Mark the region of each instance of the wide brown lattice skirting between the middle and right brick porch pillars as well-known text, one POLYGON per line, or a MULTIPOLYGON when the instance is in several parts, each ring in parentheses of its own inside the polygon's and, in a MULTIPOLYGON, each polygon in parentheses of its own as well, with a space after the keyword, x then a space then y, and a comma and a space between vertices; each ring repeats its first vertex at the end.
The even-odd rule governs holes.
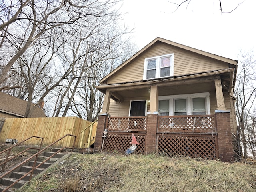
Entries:
POLYGON ((216 159, 216 135, 158 134, 158 154, 216 159))

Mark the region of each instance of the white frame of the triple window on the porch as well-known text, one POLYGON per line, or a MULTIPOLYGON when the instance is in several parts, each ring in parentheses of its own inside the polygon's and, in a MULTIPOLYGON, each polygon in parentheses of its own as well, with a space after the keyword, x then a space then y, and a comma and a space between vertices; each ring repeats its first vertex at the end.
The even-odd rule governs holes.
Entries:
POLYGON ((182 95, 168 95, 158 96, 158 100, 169 100, 169 116, 174 115, 174 103, 175 99, 186 99, 187 115, 193 115, 193 98, 205 98, 206 115, 210 115, 210 93, 194 93, 194 94, 182 94, 182 95))

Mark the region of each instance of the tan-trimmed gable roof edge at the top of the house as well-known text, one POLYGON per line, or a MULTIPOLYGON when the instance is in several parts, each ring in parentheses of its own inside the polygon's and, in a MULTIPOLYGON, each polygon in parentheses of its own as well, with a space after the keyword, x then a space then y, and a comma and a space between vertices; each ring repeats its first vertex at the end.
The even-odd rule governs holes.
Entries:
POLYGON ((202 50, 198 50, 189 46, 185 46, 176 42, 172 42, 170 40, 166 40, 160 37, 155 38, 152 42, 150 42, 149 44, 147 44, 144 48, 142 48, 141 50, 139 50, 136 54, 134 54, 131 58, 129 58, 128 60, 126 60, 124 63, 122 63, 120 66, 118 66, 116 69, 114 69, 112 72, 110 72, 108 75, 106 75, 104 78, 102 78, 100 80, 100 84, 103 84, 105 80, 107 80, 110 76, 114 75, 118 70, 122 69, 124 66, 126 66, 129 62, 131 62, 132 60, 134 60, 137 56, 139 56, 140 54, 142 54, 145 50, 147 50, 148 48, 150 48, 153 44, 155 44, 156 42, 164 42, 166 44, 172 45, 172 46, 176 46, 178 48, 182 48, 184 50, 188 50, 197 54, 201 54, 203 56, 207 56, 216 60, 220 60, 222 62, 226 62, 229 64, 232 64, 235 66, 235 68, 237 67, 237 63, 238 61, 236 60, 232 60, 229 58, 225 58, 222 56, 218 56, 215 54, 211 54, 202 50))

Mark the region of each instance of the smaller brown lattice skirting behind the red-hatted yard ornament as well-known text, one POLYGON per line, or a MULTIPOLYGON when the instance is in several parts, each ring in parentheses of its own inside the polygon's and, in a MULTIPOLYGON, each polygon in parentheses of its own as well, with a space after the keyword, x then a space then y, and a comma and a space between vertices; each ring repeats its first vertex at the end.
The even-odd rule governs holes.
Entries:
MULTIPOLYGON (((144 154, 146 133, 134 133, 136 140, 139 143, 134 153, 144 154)), ((132 133, 129 132, 108 132, 104 141, 104 152, 124 153, 130 146, 132 141, 132 133)))

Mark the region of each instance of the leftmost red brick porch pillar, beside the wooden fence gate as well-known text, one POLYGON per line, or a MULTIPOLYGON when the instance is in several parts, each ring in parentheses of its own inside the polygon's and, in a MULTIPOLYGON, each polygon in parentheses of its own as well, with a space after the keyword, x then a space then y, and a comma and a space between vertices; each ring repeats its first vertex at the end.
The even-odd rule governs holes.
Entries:
POLYGON ((98 116, 98 125, 97 125, 97 130, 96 130, 96 136, 95 136, 95 143, 94 143, 94 152, 100 152, 101 151, 101 146, 102 146, 102 136, 103 136, 103 131, 106 127, 108 116, 106 114, 98 116))

